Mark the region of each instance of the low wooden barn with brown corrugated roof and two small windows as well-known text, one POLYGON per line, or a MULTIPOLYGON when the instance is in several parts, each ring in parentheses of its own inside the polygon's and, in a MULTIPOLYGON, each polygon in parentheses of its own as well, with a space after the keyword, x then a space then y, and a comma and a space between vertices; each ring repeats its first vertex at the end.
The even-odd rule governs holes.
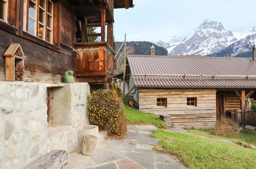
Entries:
POLYGON ((129 55, 130 90, 145 113, 171 126, 213 128, 221 116, 255 124, 253 58, 129 55))

